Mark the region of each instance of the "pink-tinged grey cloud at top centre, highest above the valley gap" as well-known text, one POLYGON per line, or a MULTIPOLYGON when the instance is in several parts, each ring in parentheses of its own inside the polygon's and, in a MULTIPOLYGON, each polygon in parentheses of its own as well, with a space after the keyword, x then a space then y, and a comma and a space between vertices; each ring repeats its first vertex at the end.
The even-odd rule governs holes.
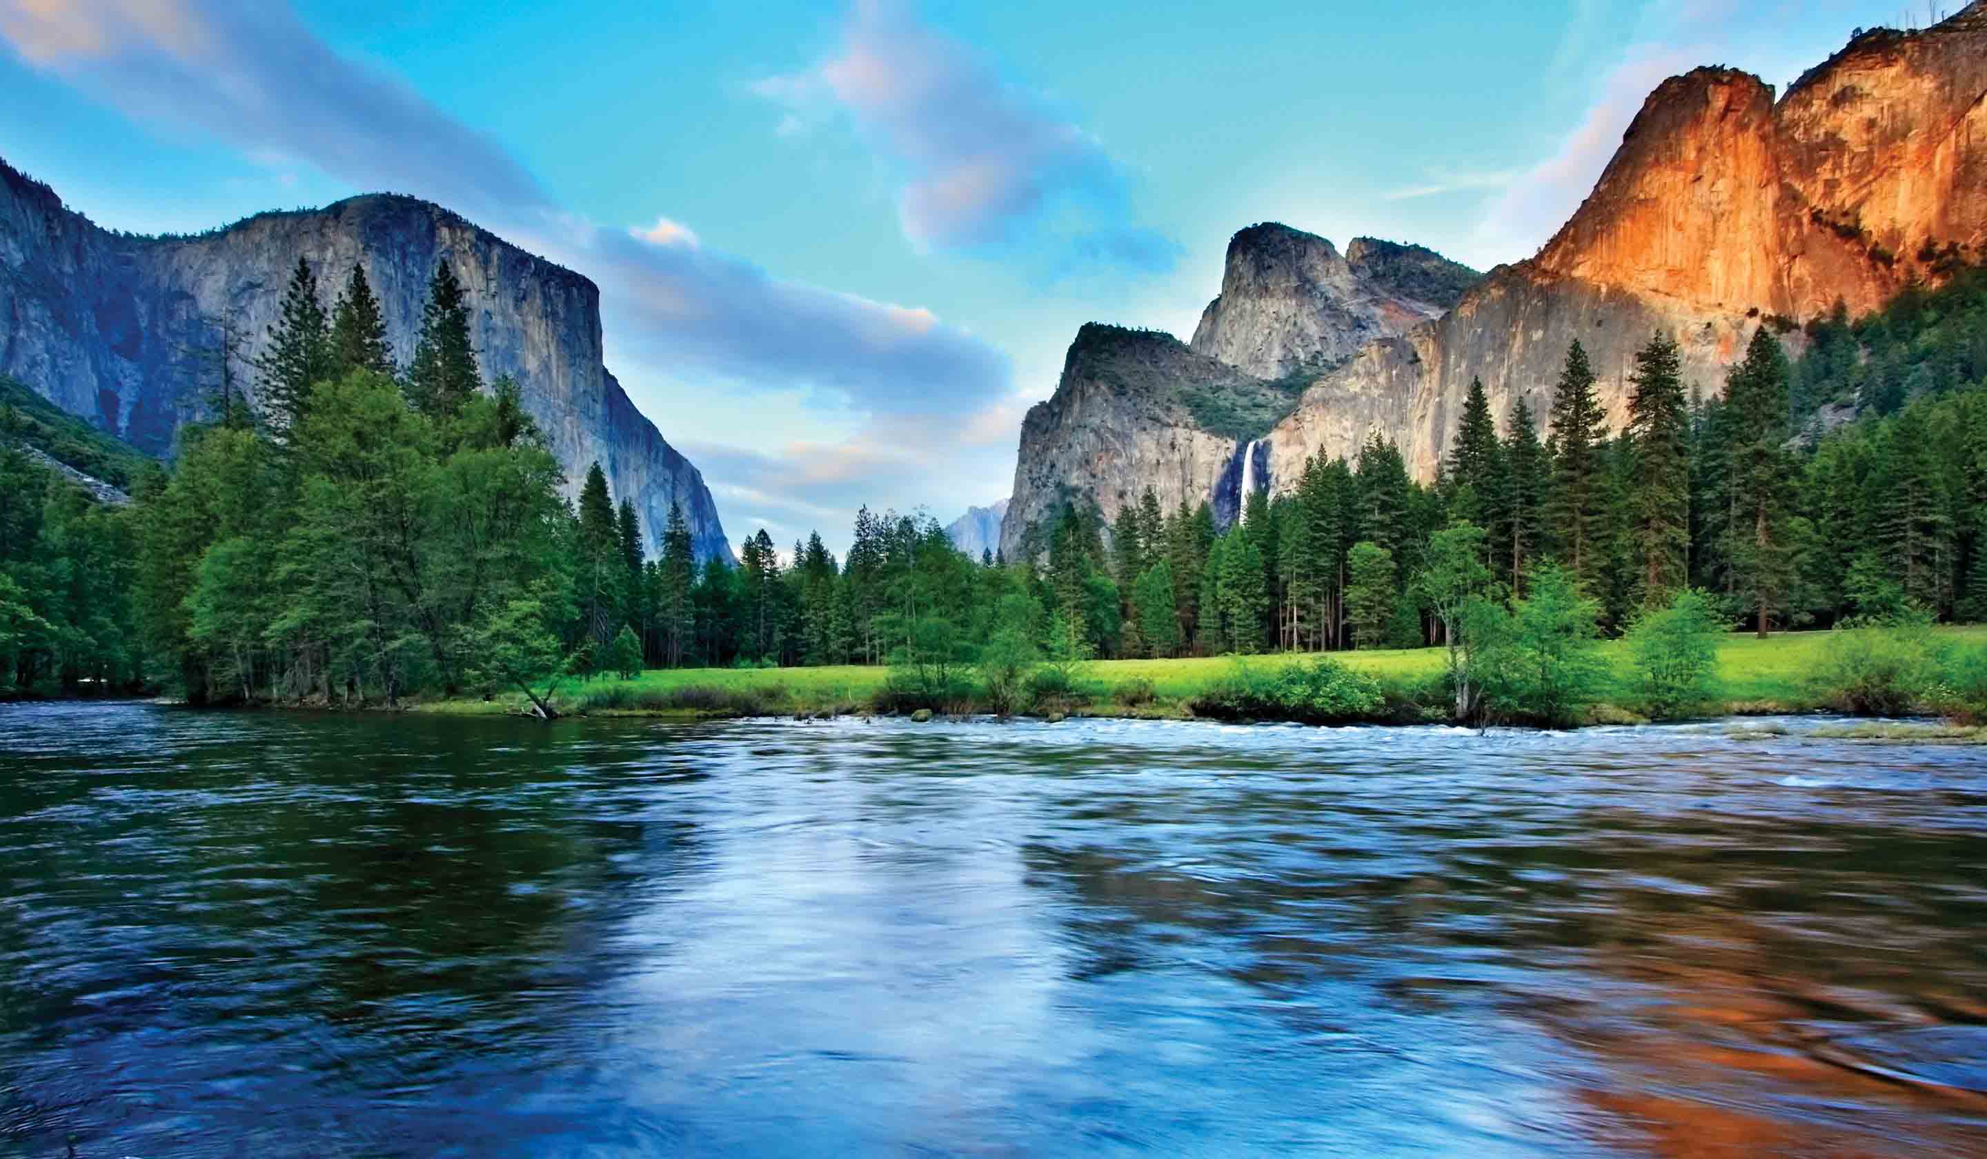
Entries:
POLYGON ((912 245, 1037 245, 1063 264, 1139 270, 1166 270, 1180 252, 1133 221, 1125 171, 1101 141, 898 0, 854 0, 837 56, 753 91, 789 107, 781 131, 823 103, 846 109, 906 171, 898 223, 912 245))

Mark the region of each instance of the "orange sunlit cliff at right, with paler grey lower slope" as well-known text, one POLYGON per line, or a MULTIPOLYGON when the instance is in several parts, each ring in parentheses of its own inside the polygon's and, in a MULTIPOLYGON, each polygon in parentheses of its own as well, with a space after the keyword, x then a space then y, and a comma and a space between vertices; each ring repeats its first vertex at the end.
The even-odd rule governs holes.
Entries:
POLYGON ((1657 85, 1538 256, 1319 376, 1270 435, 1272 475, 1351 455, 1377 429, 1429 479, 1472 378, 1492 414, 1542 419, 1574 338, 1619 429, 1633 352, 1657 330, 1683 346, 1687 382, 1717 394, 1755 328, 1836 300, 1874 310, 1983 258, 1987 4, 1866 32, 1778 103, 1755 76, 1697 70, 1657 85))

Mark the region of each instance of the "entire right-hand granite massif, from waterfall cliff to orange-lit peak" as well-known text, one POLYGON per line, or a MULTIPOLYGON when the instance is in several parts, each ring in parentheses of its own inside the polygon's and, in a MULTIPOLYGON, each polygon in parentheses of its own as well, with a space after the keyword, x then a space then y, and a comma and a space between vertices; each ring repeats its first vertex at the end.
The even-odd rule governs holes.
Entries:
POLYGON ((1778 99, 1755 76, 1695 70, 1649 93, 1536 256, 1480 280, 1419 247, 1361 239, 1339 256, 1286 227, 1238 233, 1192 342, 1232 378, 1180 364, 1204 396, 1182 417, 1162 406, 1180 384, 1103 392, 1097 366, 1073 374, 1073 346, 1021 427, 1001 543, 1011 557, 1065 499, 1115 515, 1146 485, 1226 517, 1236 479, 1290 487, 1307 455, 1351 457, 1375 431, 1431 479, 1472 378, 1500 417, 1528 406, 1544 423, 1574 338, 1619 427, 1633 352, 1657 330, 1715 394, 1758 326, 1798 344, 1838 300, 1866 312, 1981 260, 1987 0, 1927 30, 1858 34, 1778 99), (1264 388, 1298 396, 1268 429, 1206 421, 1234 410, 1222 392, 1264 388))

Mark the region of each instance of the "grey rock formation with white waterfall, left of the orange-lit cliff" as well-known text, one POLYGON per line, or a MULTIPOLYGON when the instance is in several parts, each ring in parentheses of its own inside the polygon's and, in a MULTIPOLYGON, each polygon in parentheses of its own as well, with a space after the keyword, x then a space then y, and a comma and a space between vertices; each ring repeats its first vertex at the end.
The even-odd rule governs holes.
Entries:
POLYGON ((1439 316, 1476 280, 1425 247, 1353 239, 1339 254, 1288 225, 1236 233, 1190 346, 1154 330, 1077 332, 1055 396, 1021 423, 1001 553, 1019 559, 1027 529, 1063 503, 1117 519, 1146 487, 1166 511, 1212 499, 1226 527, 1244 483, 1270 483, 1258 439, 1315 374, 1439 316))

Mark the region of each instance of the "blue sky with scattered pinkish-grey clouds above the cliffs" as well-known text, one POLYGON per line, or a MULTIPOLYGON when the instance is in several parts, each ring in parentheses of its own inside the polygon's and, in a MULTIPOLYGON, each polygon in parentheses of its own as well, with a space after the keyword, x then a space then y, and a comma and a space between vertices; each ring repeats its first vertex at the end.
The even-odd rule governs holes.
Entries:
MULTIPOLYGON (((1186 338, 1228 235, 1528 256, 1643 95, 1898 4, 0 0, 0 157, 131 231, 393 189, 602 286, 733 539, 1011 483, 1087 320, 1186 338)), ((1921 12, 1919 12, 1921 18, 1921 12)))

